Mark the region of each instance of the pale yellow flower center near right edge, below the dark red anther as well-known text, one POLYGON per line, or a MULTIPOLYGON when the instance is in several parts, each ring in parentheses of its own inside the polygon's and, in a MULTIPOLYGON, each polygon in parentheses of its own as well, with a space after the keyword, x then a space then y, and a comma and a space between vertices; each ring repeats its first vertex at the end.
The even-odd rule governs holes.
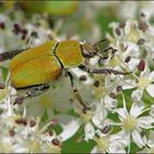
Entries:
POLYGON ((146 88, 150 85, 151 80, 147 77, 139 77, 138 86, 141 89, 146 88))

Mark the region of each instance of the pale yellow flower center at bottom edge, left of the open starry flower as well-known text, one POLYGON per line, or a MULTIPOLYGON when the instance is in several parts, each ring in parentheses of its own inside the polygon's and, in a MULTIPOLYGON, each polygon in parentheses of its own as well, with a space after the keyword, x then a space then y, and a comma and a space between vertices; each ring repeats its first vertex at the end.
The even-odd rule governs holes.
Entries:
POLYGON ((97 148, 101 152, 107 151, 109 147, 110 141, 108 136, 101 136, 99 139, 97 138, 95 141, 97 142, 97 148))

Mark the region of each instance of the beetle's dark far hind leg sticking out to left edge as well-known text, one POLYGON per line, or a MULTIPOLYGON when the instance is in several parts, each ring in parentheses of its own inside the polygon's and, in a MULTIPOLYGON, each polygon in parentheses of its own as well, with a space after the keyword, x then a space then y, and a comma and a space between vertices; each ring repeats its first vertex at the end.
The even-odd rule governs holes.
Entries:
POLYGON ((2 61, 7 61, 7 59, 11 59, 13 58, 15 55, 24 52, 25 50, 28 50, 30 47, 25 47, 25 48, 16 48, 16 50, 13 50, 11 52, 4 52, 4 53, 1 53, 0 54, 0 62, 2 61))

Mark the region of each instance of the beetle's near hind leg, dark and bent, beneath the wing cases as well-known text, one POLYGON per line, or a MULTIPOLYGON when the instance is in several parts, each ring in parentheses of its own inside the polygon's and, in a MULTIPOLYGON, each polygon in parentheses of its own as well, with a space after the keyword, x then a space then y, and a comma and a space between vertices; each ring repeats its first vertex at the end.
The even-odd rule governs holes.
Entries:
MULTIPOLYGON (((26 88, 26 89, 24 88, 24 90, 26 90, 26 92, 19 96, 15 99, 14 105, 16 105, 16 103, 21 105, 23 102, 23 100, 26 98, 40 96, 40 95, 44 94, 48 88, 50 88, 50 85, 40 85, 40 86, 26 88)), ((18 90, 21 90, 21 89, 18 89, 18 90)))

